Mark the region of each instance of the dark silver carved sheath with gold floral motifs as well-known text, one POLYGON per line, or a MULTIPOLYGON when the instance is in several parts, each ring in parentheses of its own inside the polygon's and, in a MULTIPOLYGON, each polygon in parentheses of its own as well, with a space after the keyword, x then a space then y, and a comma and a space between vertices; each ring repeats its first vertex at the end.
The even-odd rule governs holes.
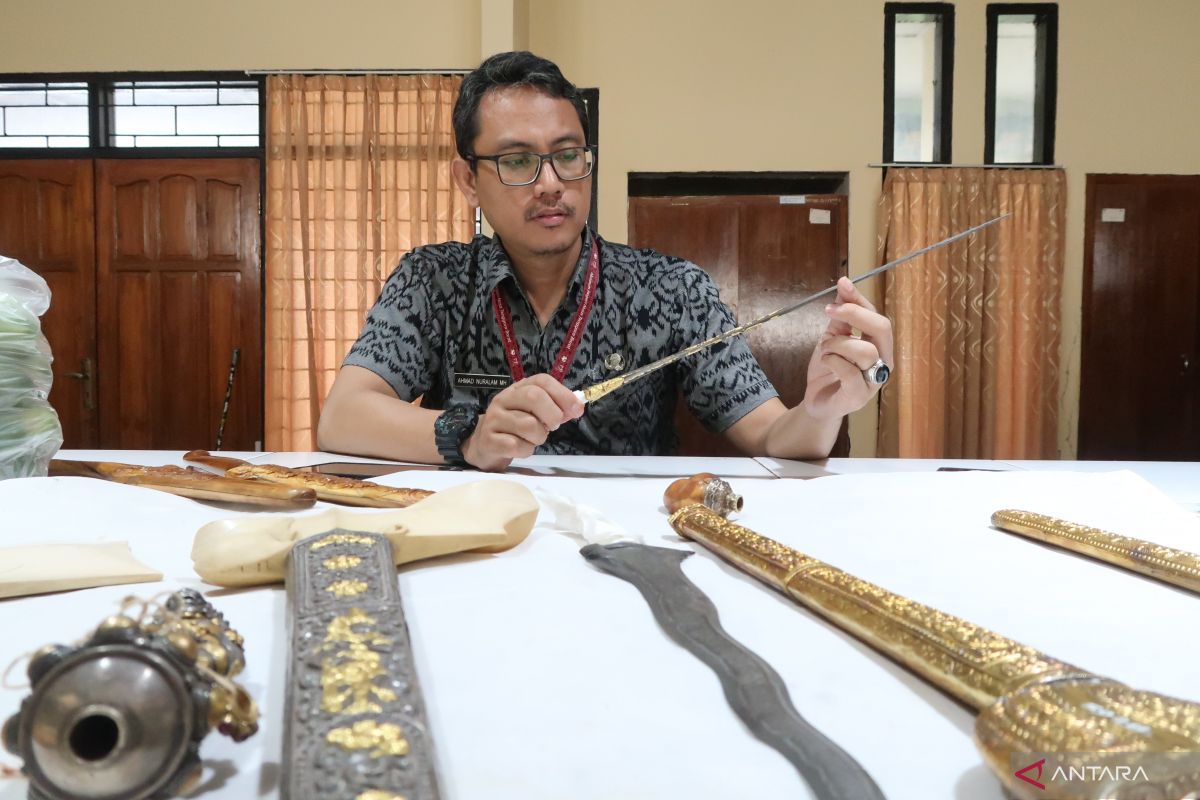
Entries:
POLYGON ((287 587, 282 796, 438 798, 391 545, 350 530, 306 539, 287 587))

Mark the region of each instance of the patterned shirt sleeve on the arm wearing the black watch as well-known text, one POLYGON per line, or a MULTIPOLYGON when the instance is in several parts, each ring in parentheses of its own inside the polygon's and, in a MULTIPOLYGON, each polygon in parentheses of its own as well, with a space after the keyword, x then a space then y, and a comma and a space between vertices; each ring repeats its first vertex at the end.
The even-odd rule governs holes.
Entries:
POLYGON ((384 283, 342 366, 370 369, 402 401, 430 391, 442 368, 436 294, 430 265, 416 251, 407 253, 384 283))

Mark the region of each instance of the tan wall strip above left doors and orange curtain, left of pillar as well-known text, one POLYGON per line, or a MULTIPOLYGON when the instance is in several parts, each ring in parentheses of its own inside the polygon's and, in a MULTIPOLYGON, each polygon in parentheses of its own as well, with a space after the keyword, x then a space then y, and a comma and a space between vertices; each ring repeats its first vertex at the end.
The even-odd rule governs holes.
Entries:
POLYGON ((480 0, 2 0, 0 72, 451 70, 480 0))

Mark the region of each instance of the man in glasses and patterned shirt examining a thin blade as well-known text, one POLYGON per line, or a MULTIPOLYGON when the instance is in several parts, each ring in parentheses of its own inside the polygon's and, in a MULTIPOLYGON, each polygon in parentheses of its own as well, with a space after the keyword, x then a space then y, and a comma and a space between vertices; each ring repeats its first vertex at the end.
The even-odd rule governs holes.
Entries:
POLYGON ((582 97, 552 62, 487 59, 463 79, 454 127, 455 182, 496 236, 404 255, 329 393, 322 449, 484 470, 535 451, 664 453, 682 391, 746 453, 820 458, 886 380, 876 365, 892 363, 890 324, 841 278, 799 405, 782 404, 736 338, 586 408, 574 389, 725 331, 733 315, 694 264, 587 229, 595 149, 582 97))

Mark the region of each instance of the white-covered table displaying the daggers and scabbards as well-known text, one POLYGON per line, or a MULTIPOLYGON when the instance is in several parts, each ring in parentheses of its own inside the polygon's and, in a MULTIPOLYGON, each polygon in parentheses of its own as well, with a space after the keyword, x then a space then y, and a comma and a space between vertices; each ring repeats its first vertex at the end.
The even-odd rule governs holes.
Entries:
MULTIPOLYGON (((182 463, 181 453, 66 452, 64 457, 182 463)), ((347 461, 324 453, 246 453, 258 462, 347 461)), ((961 462, 830 459, 840 475, 774 480, 811 465, 772 459, 535 457, 509 477, 601 510, 647 543, 674 536, 661 495, 676 476, 714 471, 745 497, 739 522, 913 600, 991 627, 1049 655, 1140 688, 1200 699, 1187 634, 1200 597, 992 530, 995 509, 1040 509, 1200 551, 1194 513, 1130 473, 1090 464, 976 463, 1004 473, 940 473, 961 462), (1062 469, 1084 467, 1076 474, 1062 469), (924 469, 922 469, 924 468, 924 469), (584 477, 583 475, 589 475, 584 477), (1134 513, 1136 512, 1136 513, 1134 513)), ((1112 465, 1110 465, 1112 467, 1112 465)), ((1178 503, 1195 464, 1139 465, 1178 503)), ((414 470, 380 479, 440 488, 475 473, 414 470)), ((90 630, 127 595, 203 589, 247 642, 242 680, 262 730, 242 745, 212 734, 198 796, 276 796, 287 630, 282 588, 217 590, 188 549, 228 510, 88 479, 0 482, 0 546, 128 540, 162 584, 0 602, 0 662, 90 630)), ((401 591, 428 705, 446 800, 809 796, 792 766, 755 740, 716 678, 656 626, 637 591, 590 567, 580 542, 539 521, 494 557, 401 570, 401 591)), ((971 741, 973 715, 809 612, 707 552, 685 572, 728 632, 784 676, 798 710, 859 759, 893 799, 1000 800, 971 741)), ((19 675, 18 675, 19 676, 19 675)), ((24 691, 0 690, 0 716, 24 691)), ((4 757, 5 763, 14 758, 4 757)), ((0 781, 0 799, 24 796, 0 781)))

